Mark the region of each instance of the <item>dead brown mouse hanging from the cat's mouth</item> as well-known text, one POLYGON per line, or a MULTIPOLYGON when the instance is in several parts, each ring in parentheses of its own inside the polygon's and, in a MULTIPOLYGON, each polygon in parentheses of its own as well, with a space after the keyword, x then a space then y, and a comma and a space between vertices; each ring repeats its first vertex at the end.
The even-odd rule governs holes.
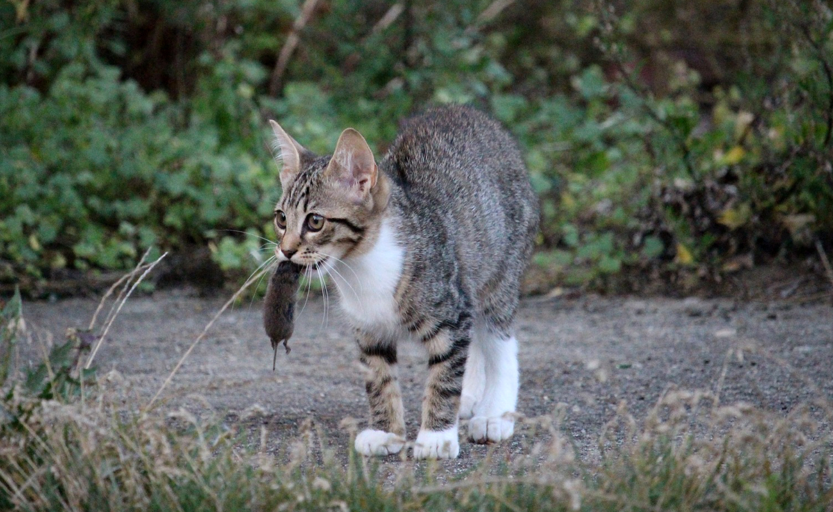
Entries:
POLYGON ((263 328, 272 341, 275 356, 272 359, 272 370, 275 370, 277 360, 277 345, 283 346, 289 353, 287 341, 292 337, 295 321, 295 292, 298 280, 301 278, 302 266, 292 261, 282 261, 275 267, 269 278, 269 287, 263 304, 263 328))

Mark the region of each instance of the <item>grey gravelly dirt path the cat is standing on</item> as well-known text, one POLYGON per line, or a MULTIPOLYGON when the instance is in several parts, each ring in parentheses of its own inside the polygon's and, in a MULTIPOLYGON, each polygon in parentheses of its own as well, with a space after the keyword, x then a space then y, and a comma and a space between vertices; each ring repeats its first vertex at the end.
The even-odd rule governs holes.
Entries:
MULTIPOLYGON (((187 346, 222 306, 157 292, 124 306, 97 356, 99 375, 117 370, 148 400, 187 346)), ((72 299, 24 304, 30 326, 61 336, 68 326, 86 326, 97 301, 72 299)), ((302 304, 299 304, 299 307, 302 304)), ((521 342, 519 410, 528 416, 566 411, 563 429, 579 447, 592 446, 601 426, 624 401, 644 415, 669 386, 717 390, 721 401, 744 400, 787 411, 817 397, 833 398, 833 307, 826 304, 735 301, 636 300, 584 297, 523 302, 518 316, 521 342), (727 357, 746 346, 742 360, 727 357), (750 350, 751 349, 751 350, 750 350), (784 365, 786 362, 788 366, 784 365), (814 390, 814 388, 816 390, 814 390)), ((322 298, 313 298, 297 321, 292 353, 277 355, 262 332, 260 304, 227 312, 182 366, 164 393, 166 408, 213 408, 228 421, 259 405, 257 420, 279 444, 312 418, 344 454, 345 417, 366 415, 357 351, 347 326, 333 308, 325 320, 322 298)), ((29 349, 27 358, 37 357, 29 349)), ((425 357, 419 347, 401 349, 400 377, 409 438, 416 436, 425 357)), ((517 453, 528 432, 521 429, 501 450, 517 453)), ((461 444, 465 468, 486 447, 461 444)))

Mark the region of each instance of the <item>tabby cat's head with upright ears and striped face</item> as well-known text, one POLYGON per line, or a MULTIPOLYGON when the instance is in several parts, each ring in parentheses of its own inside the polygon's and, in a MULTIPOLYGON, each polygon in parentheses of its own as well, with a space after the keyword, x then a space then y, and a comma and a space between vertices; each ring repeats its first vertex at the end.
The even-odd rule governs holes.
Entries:
POLYGON ((390 196, 362 134, 347 128, 332 157, 317 157, 270 123, 282 160, 277 260, 312 266, 360 253, 377 236, 390 196))

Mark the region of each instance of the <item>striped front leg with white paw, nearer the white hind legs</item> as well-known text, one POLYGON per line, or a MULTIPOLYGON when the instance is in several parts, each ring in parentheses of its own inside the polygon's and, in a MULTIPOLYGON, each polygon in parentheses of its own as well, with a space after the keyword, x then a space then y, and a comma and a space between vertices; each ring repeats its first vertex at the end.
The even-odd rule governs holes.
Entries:
POLYGON ((422 425, 416 435, 415 459, 454 459, 460 453, 457 414, 463 372, 471 340, 471 322, 438 322, 421 336, 428 349, 428 382, 422 399, 422 425))

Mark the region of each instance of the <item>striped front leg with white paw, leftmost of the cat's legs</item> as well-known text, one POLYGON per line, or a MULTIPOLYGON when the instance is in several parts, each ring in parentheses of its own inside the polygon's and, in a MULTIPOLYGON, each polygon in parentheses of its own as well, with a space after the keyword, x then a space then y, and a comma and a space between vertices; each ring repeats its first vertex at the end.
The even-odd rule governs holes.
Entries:
POLYGON ((370 425, 356 436, 356 451, 362 455, 399 453, 405 445, 405 414, 397 380, 396 342, 359 332, 358 345, 366 370, 370 425))

